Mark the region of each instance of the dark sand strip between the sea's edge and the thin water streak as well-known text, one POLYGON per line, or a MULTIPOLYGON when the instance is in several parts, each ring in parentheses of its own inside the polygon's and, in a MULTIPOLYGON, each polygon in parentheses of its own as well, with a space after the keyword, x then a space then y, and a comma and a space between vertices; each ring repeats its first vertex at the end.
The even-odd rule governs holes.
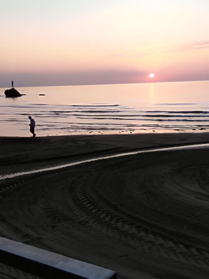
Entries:
POLYGON ((209 142, 209 132, 0 137, 0 166, 132 149, 209 142))

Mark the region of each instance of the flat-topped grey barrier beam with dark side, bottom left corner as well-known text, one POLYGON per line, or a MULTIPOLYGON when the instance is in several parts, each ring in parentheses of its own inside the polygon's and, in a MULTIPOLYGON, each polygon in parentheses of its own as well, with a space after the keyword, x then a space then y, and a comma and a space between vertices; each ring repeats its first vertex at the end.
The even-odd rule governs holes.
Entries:
POLYGON ((0 237, 0 262, 46 279, 108 279, 116 272, 0 237))

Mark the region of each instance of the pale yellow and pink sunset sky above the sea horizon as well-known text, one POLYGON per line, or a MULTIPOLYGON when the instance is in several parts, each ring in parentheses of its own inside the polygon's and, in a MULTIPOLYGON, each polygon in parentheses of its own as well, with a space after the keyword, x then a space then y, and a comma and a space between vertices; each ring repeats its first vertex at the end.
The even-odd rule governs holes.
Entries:
POLYGON ((0 87, 209 80, 208 0, 0 7, 0 87))

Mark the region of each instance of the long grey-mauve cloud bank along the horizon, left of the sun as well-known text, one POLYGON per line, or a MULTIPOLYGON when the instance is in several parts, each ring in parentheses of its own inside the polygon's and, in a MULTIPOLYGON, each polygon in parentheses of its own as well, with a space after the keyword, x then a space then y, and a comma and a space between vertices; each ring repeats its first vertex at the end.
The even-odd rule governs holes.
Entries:
POLYGON ((0 87, 91 85, 142 82, 145 72, 131 70, 94 70, 64 73, 1 73, 0 87))

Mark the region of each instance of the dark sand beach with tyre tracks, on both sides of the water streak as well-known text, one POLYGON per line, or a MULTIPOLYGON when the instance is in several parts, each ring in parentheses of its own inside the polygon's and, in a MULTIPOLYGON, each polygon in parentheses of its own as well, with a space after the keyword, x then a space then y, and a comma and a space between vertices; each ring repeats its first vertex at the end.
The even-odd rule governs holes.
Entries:
MULTIPOLYGON (((0 175, 209 133, 0 138, 0 175)), ((209 277, 209 150, 140 153, 0 180, 0 236, 117 272, 209 277)), ((1 271, 1 266, 0 266, 1 271)))

